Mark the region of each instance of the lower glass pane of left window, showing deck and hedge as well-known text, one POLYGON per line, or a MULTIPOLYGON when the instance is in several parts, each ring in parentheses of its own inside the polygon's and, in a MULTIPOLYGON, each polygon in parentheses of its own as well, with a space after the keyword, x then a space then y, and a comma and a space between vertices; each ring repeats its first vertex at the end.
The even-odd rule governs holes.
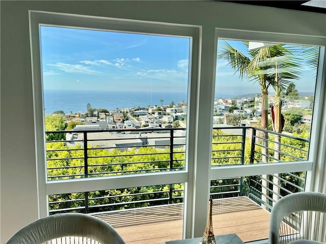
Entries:
POLYGON ((51 195, 49 214, 85 212, 112 225, 126 242, 182 239, 184 184, 51 195), (149 235, 148 230, 152 233, 149 235))

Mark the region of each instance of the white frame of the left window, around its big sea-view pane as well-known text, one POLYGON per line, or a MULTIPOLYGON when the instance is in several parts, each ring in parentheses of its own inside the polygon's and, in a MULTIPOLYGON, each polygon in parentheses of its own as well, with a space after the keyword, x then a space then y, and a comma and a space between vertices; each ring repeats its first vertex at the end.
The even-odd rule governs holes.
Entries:
MULTIPOLYGON (((48 195, 64 194, 73 192, 111 190, 140 186, 153 186, 164 184, 184 183, 187 188, 188 172, 193 172, 195 161, 196 135, 188 133, 189 130, 196 131, 196 87, 198 86, 197 63, 199 53, 200 26, 181 25, 170 23, 158 23, 149 21, 115 19, 107 17, 94 17, 73 14, 50 13, 42 11, 29 11, 30 16, 30 41, 32 55, 32 79, 33 79, 33 102, 36 138, 37 158, 37 184, 38 184, 38 209, 39 217, 48 215, 48 195), (137 175, 119 175, 98 178, 82 178, 47 181, 46 158, 45 158, 45 127, 44 127, 44 103, 43 83, 41 68, 40 48, 40 26, 62 26, 82 29, 96 29, 112 32, 149 34, 158 36, 186 37, 190 39, 189 50, 189 72, 188 72, 188 119, 186 137, 185 170, 162 173, 146 173, 137 175), (192 88, 194 87, 194 88, 192 88)), ((185 192, 192 192, 186 191, 185 192)), ((190 195, 185 195, 185 198, 190 195)), ((189 202, 185 200, 185 203, 189 202)), ((186 209, 186 207, 184 207, 186 209)), ((184 215, 184 223, 186 217, 184 215)), ((189 218, 190 219, 190 218, 189 218)), ((185 235, 185 233, 184 233, 185 235)))

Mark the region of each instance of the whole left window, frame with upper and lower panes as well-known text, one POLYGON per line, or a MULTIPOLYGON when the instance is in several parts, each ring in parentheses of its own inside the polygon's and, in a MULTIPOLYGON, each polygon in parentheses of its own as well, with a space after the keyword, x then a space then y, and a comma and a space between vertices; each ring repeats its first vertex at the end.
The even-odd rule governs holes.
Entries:
POLYGON ((38 162, 41 215, 102 213, 98 217, 105 220, 114 212, 122 221, 129 212, 135 219, 147 216, 138 228, 153 218, 177 223, 174 237, 167 229, 166 237, 152 243, 182 238, 198 30, 60 14, 33 17, 40 17, 33 51, 39 64, 35 107, 43 111, 36 118, 39 148, 44 145, 38 162))

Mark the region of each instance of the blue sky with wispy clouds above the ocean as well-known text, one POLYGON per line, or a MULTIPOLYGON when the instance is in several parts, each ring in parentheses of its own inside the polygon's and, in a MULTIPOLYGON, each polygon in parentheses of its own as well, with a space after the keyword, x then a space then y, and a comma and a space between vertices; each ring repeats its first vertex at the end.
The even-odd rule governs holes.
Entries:
MULTIPOLYGON (((244 51, 243 45, 231 45, 244 51)), ((189 39, 41 26, 45 89, 187 91, 189 39)), ((240 80, 218 60, 216 93, 259 93, 259 85, 240 80)), ((296 81, 313 92, 310 71, 296 81)))

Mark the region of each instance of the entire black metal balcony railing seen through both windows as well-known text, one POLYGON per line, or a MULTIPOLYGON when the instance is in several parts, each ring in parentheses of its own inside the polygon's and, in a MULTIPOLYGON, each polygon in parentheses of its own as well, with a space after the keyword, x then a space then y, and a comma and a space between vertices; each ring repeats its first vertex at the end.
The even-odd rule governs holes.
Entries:
MULTIPOLYGON (((59 135, 56 140, 46 141, 48 180, 184 170, 185 131, 175 128, 46 132, 52 138, 59 135)), ((307 160, 308 146, 307 139, 253 127, 214 128, 212 167, 307 160), (275 136, 281 139, 276 141, 275 136), (268 162, 263 162, 263 157, 268 162)), ((273 195, 282 197, 302 191, 304 182, 305 172, 212 179, 210 194, 213 199, 248 196, 270 209, 273 195), (280 182, 276 192, 274 177, 280 182), (262 184, 263 180, 267 186, 262 184)), ((174 204, 183 202, 183 195, 183 184, 52 195, 49 212, 100 212, 174 204)))

